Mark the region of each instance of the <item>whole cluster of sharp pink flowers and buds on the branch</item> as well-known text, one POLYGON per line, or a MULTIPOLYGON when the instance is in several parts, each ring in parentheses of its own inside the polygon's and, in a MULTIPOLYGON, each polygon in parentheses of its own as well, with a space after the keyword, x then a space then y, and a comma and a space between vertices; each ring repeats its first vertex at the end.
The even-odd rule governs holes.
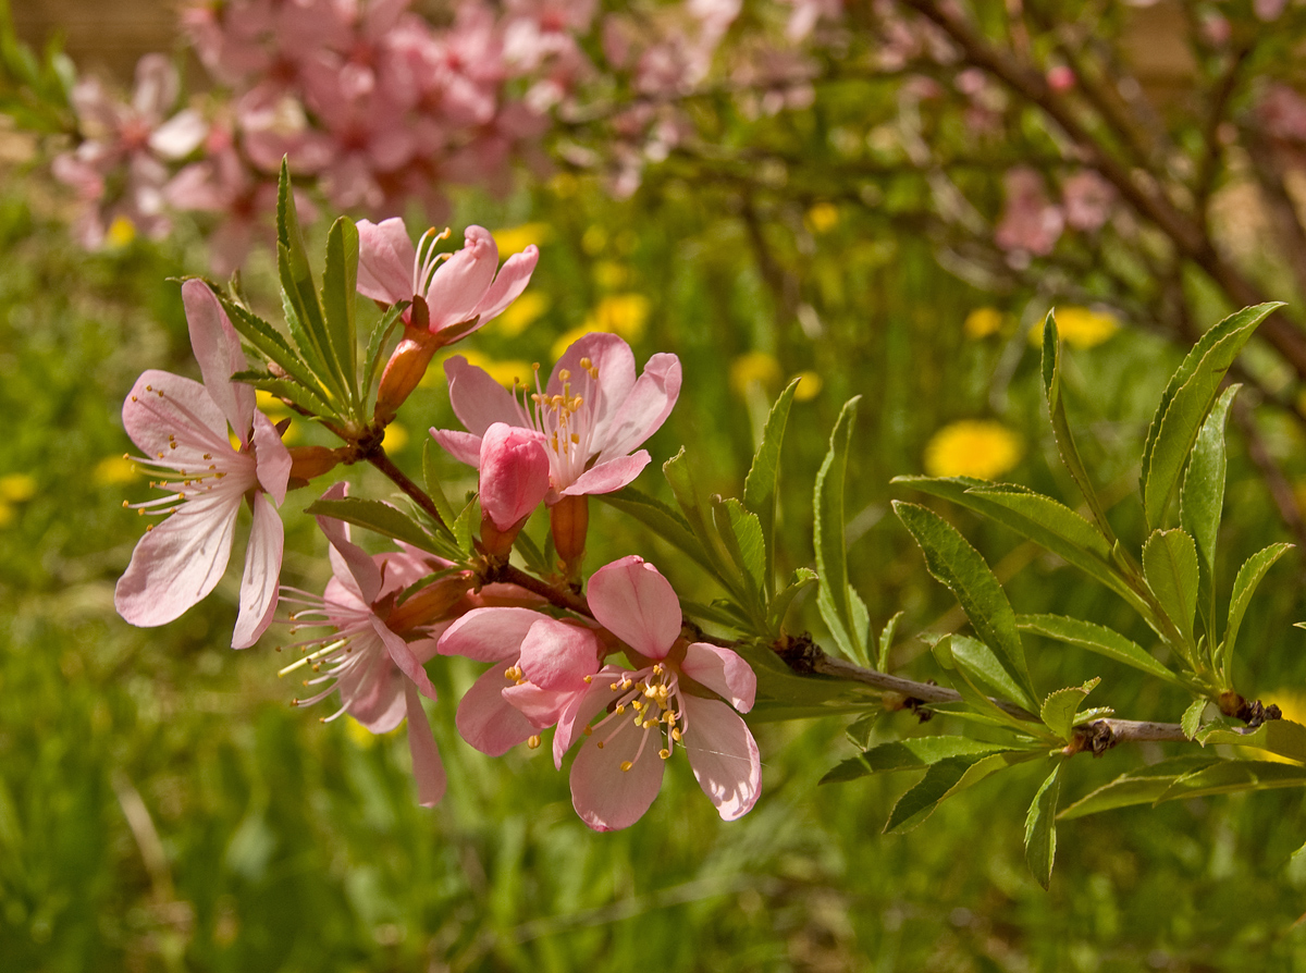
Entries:
MULTIPOLYGON (((364 436, 375 439, 393 418, 430 350, 470 334, 522 293, 537 259, 530 247, 499 266, 490 234, 477 226, 468 227, 461 249, 435 259, 430 235, 414 247, 397 219, 359 226, 359 294, 407 304, 405 336, 380 380, 376 424, 364 436)), ((323 447, 287 451, 285 426, 257 411, 253 388, 232 380, 247 363, 214 291, 192 279, 183 298, 204 381, 148 371, 123 407, 124 426, 144 452, 138 462, 159 474, 151 486, 167 490, 136 504, 142 515, 167 518, 146 532, 119 581, 123 618, 163 624, 209 594, 247 503, 253 530, 232 645, 259 640, 278 597, 294 605, 291 632, 312 632, 289 646, 300 656, 281 670, 306 671, 307 691, 294 704, 336 695, 324 721, 347 714, 377 734, 406 720, 422 805, 436 803, 445 789, 422 701, 436 699, 426 665, 465 656, 492 665, 458 704, 461 735, 502 755, 524 742, 538 747, 539 734, 554 727, 555 764, 562 768, 565 754, 577 751, 573 803, 590 827, 635 823, 657 795, 663 761, 680 748, 724 819, 754 806, 761 764, 739 717, 756 692, 748 665, 729 648, 686 639, 670 582, 641 558, 599 568, 588 598, 576 597, 584 586, 586 498, 622 488, 649 462, 640 447, 680 391, 675 355, 653 355, 640 375, 622 338, 586 334, 546 384, 537 376, 534 392, 516 385, 509 392, 462 357, 451 358, 449 396, 468 431, 431 434, 478 470, 475 554, 460 563, 407 545, 368 554, 346 522, 320 515, 333 576, 315 594, 279 584, 282 524, 273 500, 282 503, 289 486, 306 485, 333 464, 317 464, 312 451, 323 447), (526 586, 496 580, 541 505, 550 511, 560 573, 526 586)), ((321 499, 340 504, 347 492, 337 482, 321 499)))

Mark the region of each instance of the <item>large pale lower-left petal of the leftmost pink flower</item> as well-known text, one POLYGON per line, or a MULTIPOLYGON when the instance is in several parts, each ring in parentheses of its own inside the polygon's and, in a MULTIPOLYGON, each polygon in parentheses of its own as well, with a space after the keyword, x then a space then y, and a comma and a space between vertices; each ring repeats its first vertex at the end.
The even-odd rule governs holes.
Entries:
POLYGON ((212 592, 227 569, 239 509, 239 496, 201 498, 157 524, 118 580, 118 614, 133 626, 161 626, 212 592))

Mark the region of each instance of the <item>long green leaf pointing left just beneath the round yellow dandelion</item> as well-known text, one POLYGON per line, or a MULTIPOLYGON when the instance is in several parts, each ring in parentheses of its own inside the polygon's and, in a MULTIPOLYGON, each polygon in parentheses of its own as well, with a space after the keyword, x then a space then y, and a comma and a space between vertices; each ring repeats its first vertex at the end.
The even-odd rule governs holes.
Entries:
MULTIPOLYGON (((1030 498, 1040 498, 1040 495, 1011 483, 994 485, 970 477, 895 477, 892 482, 942 496, 1015 530, 1021 537, 1046 547, 1067 564, 1079 568, 1098 584, 1106 585, 1135 610, 1140 613, 1147 610, 1145 602, 1130 588, 1111 563, 1110 549, 1107 547, 1104 555, 1101 554, 1102 549, 1097 547, 1096 543, 1088 547, 1081 546, 1087 541, 1083 529, 1066 515, 1068 513, 1080 524, 1087 521, 1051 498, 1041 498, 1042 503, 1012 500, 1010 498, 1019 495, 1030 498)), ((1093 535, 1100 537, 1097 529, 1089 526, 1093 535)))

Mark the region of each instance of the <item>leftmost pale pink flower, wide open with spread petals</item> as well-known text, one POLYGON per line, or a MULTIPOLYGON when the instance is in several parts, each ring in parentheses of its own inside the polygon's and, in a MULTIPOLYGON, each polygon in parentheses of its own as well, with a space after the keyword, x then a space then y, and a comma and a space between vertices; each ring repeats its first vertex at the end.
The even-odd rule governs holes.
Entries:
POLYGON ((243 649, 259 640, 277 607, 283 529, 268 498, 285 500, 290 453, 255 409, 253 388, 231 381, 246 367, 244 353, 213 291, 187 281, 182 298, 204 383, 151 370, 123 404, 123 426, 148 457, 142 465, 171 492, 135 505, 167 518, 136 545, 114 601, 132 624, 161 626, 204 598, 226 571, 236 513, 248 496, 253 529, 231 637, 231 646, 243 649), (239 445, 231 444, 229 424, 239 445))

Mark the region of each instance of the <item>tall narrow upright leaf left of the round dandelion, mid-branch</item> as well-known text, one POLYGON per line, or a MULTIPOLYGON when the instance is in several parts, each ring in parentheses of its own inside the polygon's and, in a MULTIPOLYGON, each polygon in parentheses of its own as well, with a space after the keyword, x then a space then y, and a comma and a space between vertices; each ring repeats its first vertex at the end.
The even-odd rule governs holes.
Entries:
POLYGON ((848 473, 848 449, 858 401, 861 396, 844 404, 829 436, 829 451, 816 473, 814 533, 816 573, 820 575, 816 605, 844 653, 853 661, 868 666, 871 660, 866 640, 870 618, 866 606, 861 605, 861 598, 848 581, 848 547, 844 542, 844 479, 848 473))

